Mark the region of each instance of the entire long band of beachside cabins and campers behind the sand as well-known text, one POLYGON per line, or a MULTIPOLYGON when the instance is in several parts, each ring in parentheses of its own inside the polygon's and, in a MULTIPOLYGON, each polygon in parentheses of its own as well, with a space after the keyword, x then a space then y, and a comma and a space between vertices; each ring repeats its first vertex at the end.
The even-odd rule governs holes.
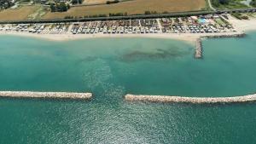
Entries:
POLYGON ((179 18, 105 20, 58 24, 2 25, 0 32, 31 32, 38 34, 147 34, 147 33, 214 33, 236 32, 222 15, 179 18))

